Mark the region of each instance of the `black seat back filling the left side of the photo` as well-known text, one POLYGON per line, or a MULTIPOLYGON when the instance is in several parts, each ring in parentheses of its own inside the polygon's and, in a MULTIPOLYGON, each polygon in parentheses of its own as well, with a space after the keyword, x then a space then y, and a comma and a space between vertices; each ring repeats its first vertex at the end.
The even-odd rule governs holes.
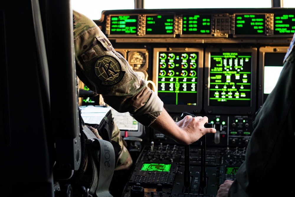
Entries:
POLYGON ((1 1, 0 43, 0 196, 54 196, 81 159, 70 1, 1 1))

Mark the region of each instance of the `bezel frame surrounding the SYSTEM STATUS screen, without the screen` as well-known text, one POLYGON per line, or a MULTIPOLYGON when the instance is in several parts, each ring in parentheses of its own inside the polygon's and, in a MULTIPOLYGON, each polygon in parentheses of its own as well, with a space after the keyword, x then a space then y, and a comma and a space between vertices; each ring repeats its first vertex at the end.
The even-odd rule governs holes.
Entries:
POLYGON ((253 115, 256 111, 256 59, 257 48, 207 48, 205 49, 205 67, 204 67, 204 111, 209 114, 239 114, 253 115), (251 64, 251 96, 250 106, 212 106, 209 105, 209 77, 210 77, 210 58, 212 52, 237 52, 237 53, 252 53, 251 64))

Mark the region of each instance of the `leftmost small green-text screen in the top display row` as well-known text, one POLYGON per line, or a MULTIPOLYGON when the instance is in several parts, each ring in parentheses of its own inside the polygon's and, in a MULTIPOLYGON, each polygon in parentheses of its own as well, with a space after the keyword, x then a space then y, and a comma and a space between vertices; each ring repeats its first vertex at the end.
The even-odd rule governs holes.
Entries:
POLYGON ((110 35, 137 34, 137 15, 110 16, 110 35))

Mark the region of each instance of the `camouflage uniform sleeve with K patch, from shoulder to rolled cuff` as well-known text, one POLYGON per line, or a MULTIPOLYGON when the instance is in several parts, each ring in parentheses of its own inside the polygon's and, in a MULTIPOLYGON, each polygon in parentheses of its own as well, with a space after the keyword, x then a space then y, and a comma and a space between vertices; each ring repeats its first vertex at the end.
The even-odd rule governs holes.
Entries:
POLYGON ((81 81, 118 112, 129 112, 149 126, 161 114, 163 102, 117 53, 104 33, 73 10, 76 71, 81 81))

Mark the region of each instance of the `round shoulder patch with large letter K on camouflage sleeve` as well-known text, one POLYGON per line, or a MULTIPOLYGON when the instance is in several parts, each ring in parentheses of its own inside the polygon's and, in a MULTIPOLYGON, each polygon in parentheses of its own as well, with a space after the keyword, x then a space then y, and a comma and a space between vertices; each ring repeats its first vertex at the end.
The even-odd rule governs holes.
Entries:
POLYGON ((124 73, 119 61, 112 56, 101 56, 95 63, 95 74, 102 85, 110 86, 120 82, 124 73))

